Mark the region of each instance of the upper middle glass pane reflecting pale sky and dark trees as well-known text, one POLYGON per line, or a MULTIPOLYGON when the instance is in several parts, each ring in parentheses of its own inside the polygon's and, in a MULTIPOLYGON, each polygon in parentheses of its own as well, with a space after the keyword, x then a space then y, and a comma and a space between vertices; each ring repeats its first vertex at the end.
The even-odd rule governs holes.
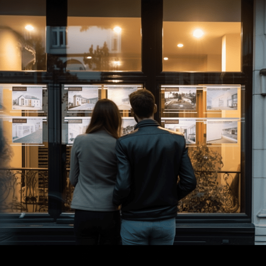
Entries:
POLYGON ((141 71, 140 1, 68 0, 66 69, 141 71))

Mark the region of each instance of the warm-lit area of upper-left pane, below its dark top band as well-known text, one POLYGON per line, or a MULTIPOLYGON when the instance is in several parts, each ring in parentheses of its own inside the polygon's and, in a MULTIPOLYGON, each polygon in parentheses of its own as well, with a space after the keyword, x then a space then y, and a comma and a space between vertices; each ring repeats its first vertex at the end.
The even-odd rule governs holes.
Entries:
POLYGON ((46 70, 45 26, 45 16, 0 15, 0 71, 46 70))

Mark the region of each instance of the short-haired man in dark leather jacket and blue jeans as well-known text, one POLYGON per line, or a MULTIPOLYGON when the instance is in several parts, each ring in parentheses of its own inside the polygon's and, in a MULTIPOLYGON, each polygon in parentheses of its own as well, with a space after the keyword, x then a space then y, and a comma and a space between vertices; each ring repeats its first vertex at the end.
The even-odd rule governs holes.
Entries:
POLYGON ((117 139, 117 181, 113 203, 121 206, 123 245, 172 245, 178 200, 196 188, 184 135, 153 119, 154 96, 129 95, 134 131, 117 139), (180 181, 177 184, 177 177, 180 181))

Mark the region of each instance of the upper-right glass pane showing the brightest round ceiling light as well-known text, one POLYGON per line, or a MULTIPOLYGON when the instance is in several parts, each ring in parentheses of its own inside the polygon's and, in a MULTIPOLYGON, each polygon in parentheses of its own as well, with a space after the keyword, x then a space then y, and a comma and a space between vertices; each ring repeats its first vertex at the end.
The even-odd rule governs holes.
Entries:
POLYGON ((241 71, 241 1, 164 0, 163 71, 241 71))

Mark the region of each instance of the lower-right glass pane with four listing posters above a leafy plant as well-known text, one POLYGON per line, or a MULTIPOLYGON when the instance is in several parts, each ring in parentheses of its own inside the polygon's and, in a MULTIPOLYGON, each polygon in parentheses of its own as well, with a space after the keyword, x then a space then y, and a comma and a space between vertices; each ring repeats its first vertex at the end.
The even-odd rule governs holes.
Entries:
POLYGON ((239 213, 241 86, 161 85, 160 110, 162 126, 184 134, 197 178, 179 212, 239 213))

